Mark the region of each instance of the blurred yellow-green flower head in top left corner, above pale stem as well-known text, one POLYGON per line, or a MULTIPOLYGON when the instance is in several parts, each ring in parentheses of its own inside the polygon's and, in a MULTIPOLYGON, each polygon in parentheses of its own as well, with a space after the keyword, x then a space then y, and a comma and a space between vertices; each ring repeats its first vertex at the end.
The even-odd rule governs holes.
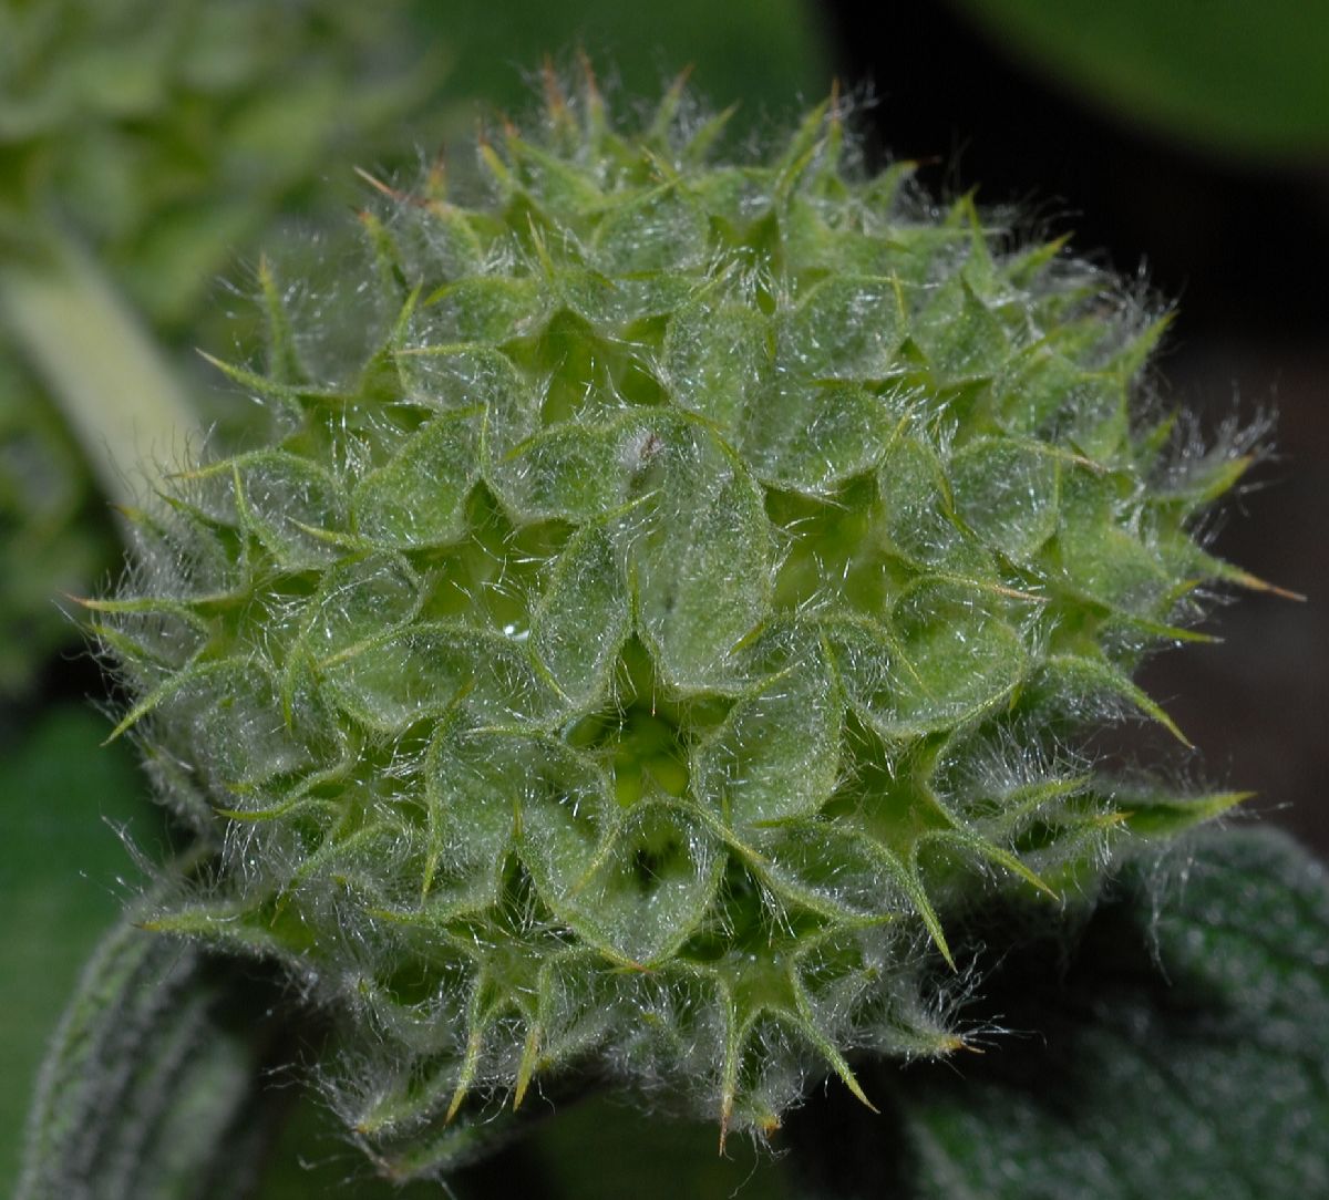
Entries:
POLYGON ((0 245, 57 221, 179 331, 275 211, 319 194, 334 148, 409 150, 393 121, 443 62, 407 17, 403 0, 4 0, 0 245))

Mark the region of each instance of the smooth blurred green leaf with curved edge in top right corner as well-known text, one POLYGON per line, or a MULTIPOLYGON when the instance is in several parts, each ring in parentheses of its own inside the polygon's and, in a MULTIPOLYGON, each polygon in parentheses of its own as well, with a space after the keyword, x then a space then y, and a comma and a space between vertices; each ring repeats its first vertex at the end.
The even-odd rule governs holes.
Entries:
POLYGON ((1317 0, 953 3, 1083 100, 1174 138, 1261 158, 1329 153, 1329 5, 1317 0))

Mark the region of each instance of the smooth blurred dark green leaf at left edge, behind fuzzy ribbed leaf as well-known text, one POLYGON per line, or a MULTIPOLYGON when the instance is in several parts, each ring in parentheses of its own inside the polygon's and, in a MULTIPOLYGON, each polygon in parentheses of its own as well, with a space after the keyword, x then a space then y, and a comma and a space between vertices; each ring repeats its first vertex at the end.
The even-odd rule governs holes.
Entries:
POLYGON ((65 706, 0 744, 0 1183, 19 1161, 37 1063, 133 874, 114 827, 155 848, 161 819, 106 723, 65 706))

